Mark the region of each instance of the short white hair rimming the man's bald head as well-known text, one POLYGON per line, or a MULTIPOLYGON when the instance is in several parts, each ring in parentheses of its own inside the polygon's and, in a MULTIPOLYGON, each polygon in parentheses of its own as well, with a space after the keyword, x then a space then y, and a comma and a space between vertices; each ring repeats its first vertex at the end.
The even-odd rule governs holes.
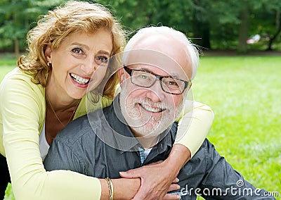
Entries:
MULTIPOLYGON (((190 63, 192 66, 192 75, 190 77, 190 80, 193 80, 197 73, 197 67, 199 65, 199 52, 197 50, 197 47, 195 46, 195 44, 192 44, 192 42, 190 42, 190 39, 188 39, 182 32, 174 30, 171 27, 159 26, 141 28, 135 35, 133 35, 133 37, 131 37, 129 42, 126 44, 124 51, 129 52, 131 49, 133 49, 133 46, 135 46, 139 40, 141 40, 143 37, 149 37, 149 35, 151 35, 152 33, 157 33, 157 35, 165 35, 167 37, 171 37, 173 39, 176 39, 178 42, 181 42, 185 46, 185 50, 187 51, 188 56, 190 57, 190 63)), ((129 54, 126 55, 129 56, 129 54)), ((126 55, 124 54, 122 58, 123 63, 125 63, 127 59, 126 55)))

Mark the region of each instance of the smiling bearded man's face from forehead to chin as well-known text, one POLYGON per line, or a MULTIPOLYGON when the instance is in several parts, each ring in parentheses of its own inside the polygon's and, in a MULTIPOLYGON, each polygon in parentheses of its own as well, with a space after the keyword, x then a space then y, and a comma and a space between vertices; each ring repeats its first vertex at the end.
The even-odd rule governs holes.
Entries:
MULTIPOLYGON (((178 51, 174 52, 170 51, 169 44, 166 44, 168 46, 161 46, 157 40, 155 40, 155 46, 152 43, 149 42, 155 48, 150 48, 151 50, 141 49, 129 52, 126 67, 151 73, 152 78, 155 77, 155 79, 156 76, 153 75, 171 76, 188 81, 187 74, 190 75, 190 71, 188 71, 190 67, 188 67, 189 63, 185 51, 182 49, 184 47, 180 44, 178 46, 174 44, 178 47, 178 49, 174 49, 178 51)), ((163 81, 161 83, 160 80, 156 80, 154 85, 145 88, 141 87, 145 83, 141 83, 141 85, 136 85, 136 82, 132 83, 131 75, 124 69, 121 69, 120 72, 122 87, 120 104, 126 123, 131 127, 136 137, 146 136, 149 138, 161 134, 181 113, 184 96, 188 92, 188 88, 185 89, 183 94, 169 94, 162 89, 162 87, 165 87, 164 84, 169 83, 163 81)), ((133 72, 134 75, 140 74, 133 72)), ((146 79, 148 77, 141 73, 141 78, 146 79)), ((169 91, 169 89, 165 90, 169 91)))

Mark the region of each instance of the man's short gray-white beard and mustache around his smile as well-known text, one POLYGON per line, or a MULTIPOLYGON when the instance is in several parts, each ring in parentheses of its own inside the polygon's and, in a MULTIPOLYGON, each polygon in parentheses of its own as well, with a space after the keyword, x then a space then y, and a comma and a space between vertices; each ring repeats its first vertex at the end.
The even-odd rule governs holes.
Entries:
MULTIPOLYGON (((143 102, 143 98, 140 99, 129 99, 129 105, 127 102, 127 92, 125 89, 121 89, 120 92, 120 106, 122 115, 126 120, 126 123, 131 127, 131 129, 138 132, 138 134, 143 136, 155 137, 160 135, 164 130, 166 130, 180 115, 183 109, 183 101, 179 106, 176 107, 176 111, 171 113, 174 110, 174 106, 164 105, 162 107, 166 108, 169 113, 165 113, 160 116, 148 116, 142 118, 141 112, 138 108, 135 108, 133 102, 143 102)), ((161 104, 161 103, 160 103, 161 104)))

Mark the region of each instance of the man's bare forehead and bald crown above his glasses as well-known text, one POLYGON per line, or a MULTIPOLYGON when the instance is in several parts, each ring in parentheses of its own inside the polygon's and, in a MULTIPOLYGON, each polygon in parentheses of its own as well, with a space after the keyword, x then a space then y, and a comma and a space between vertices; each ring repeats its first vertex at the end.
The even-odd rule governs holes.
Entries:
POLYGON ((138 37, 130 49, 125 52, 124 65, 148 63, 166 71, 177 70, 188 77, 192 75, 190 56, 184 42, 169 33, 150 32, 138 37))

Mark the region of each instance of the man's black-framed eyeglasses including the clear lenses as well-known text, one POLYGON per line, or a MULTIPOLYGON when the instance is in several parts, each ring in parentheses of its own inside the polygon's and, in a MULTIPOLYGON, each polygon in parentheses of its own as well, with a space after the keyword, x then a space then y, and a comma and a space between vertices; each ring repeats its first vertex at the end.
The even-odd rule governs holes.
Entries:
POLYGON ((192 83, 190 81, 181 80, 171 76, 160 76, 146 70, 131 69, 124 66, 124 69, 131 76, 131 83, 139 87, 152 87, 157 80, 164 92, 169 94, 183 94, 185 88, 190 89, 192 83))

